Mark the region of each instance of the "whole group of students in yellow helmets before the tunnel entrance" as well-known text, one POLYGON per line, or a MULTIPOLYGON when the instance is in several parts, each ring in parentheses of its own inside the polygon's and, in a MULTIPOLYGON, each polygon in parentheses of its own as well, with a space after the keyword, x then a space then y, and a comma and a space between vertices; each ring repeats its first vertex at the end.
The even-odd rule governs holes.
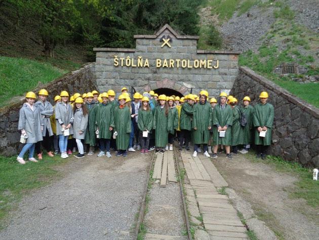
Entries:
POLYGON ((42 148, 50 157, 61 154, 61 158, 67 158, 72 149, 75 151, 75 143, 76 158, 85 156, 85 147, 88 155, 99 149, 98 157, 111 157, 111 149, 116 156, 124 157, 128 151, 135 152, 136 149, 141 154, 148 154, 153 149, 156 153, 164 153, 173 150, 176 139, 179 150, 185 147, 190 151, 191 141, 193 156, 202 151, 203 145, 204 155, 210 157, 212 154, 211 157, 216 158, 220 146, 225 149, 226 158, 233 159, 232 154, 237 154, 240 145, 243 149, 239 152, 248 152, 254 132, 258 157, 265 158, 266 148, 270 145, 273 107, 267 103, 266 92, 260 94, 260 102, 254 108, 250 106, 248 96, 239 107, 236 98, 222 92, 219 101, 214 97, 209 99, 206 90, 181 98, 158 96, 154 91, 136 92, 133 100, 125 87, 117 99, 113 90, 101 94, 94 90, 72 96, 62 91, 54 98, 55 106, 48 101, 48 95, 48 91, 42 89, 37 101, 34 92, 25 96, 18 125, 21 141, 25 143, 17 157, 21 164, 25 163, 23 156, 27 151, 29 161, 37 162, 34 151, 41 160, 42 148), (246 125, 241 124, 243 117, 246 125))

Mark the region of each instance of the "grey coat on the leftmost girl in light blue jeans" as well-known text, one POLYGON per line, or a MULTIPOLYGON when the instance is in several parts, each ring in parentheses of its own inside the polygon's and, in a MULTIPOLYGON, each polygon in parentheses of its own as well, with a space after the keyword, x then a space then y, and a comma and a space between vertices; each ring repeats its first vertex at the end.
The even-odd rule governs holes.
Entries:
POLYGON ((43 122, 41 119, 40 109, 33 105, 33 111, 25 103, 20 109, 18 130, 25 130, 28 134, 26 143, 36 143, 42 141, 41 126, 43 122))

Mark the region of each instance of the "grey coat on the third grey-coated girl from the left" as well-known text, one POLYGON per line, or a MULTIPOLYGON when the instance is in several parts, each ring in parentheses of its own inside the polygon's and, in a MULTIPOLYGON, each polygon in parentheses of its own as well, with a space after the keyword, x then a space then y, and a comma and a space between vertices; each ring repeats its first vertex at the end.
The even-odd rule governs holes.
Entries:
MULTIPOLYGON (((55 119, 57 119, 57 135, 62 135, 63 132, 61 131, 62 126, 60 125, 58 119, 61 119, 65 126, 69 125, 70 120, 73 118, 73 108, 72 106, 67 103, 63 104, 62 102, 58 102, 55 105, 55 119)), ((73 134, 73 127, 69 128, 69 134, 73 134)))

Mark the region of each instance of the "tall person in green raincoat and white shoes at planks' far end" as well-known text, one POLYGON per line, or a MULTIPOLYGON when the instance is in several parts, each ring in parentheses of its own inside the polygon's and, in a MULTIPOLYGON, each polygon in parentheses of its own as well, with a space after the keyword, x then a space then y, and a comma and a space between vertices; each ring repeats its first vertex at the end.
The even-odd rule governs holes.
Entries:
POLYGON ((207 102, 208 92, 203 90, 200 93, 200 102, 194 106, 192 128, 194 138, 194 153, 197 156, 198 148, 203 144, 204 155, 210 157, 208 153, 208 141, 210 129, 212 128, 212 107, 207 102))

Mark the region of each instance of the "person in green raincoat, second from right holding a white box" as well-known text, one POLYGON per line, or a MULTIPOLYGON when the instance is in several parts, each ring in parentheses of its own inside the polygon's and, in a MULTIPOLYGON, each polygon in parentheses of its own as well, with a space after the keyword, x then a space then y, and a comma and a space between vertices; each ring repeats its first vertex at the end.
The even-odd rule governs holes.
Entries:
POLYGON ((233 159, 230 154, 231 145, 231 125, 232 125, 232 110, 226 104, 227 94, 221 92, 219 95, 220 102, 213 110, 213 155, 212 158, 217 157, 218 145, 224 145, 226 150, 226 158, 233 159), (224 132, 224 136, 221 133, 224 132))

